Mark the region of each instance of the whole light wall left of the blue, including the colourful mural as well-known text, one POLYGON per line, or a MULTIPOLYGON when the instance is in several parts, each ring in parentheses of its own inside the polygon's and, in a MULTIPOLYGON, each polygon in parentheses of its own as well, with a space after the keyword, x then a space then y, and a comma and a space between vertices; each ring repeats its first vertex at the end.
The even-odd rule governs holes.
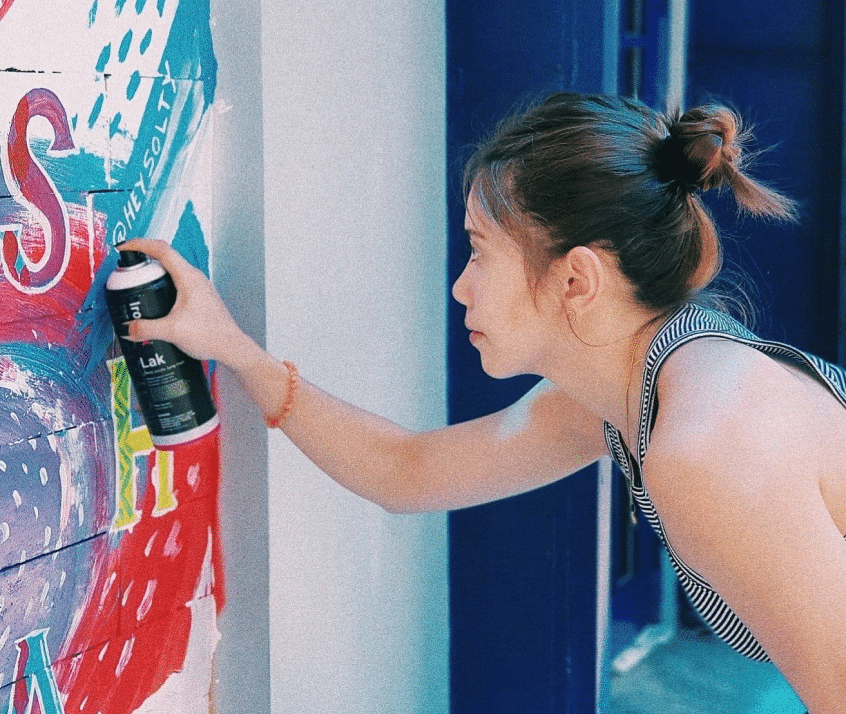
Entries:
POLYGON ((446 711, 444 516, 342 492, 225 372, 220 434, 156 452, 100 299, 114 240, 171 239, 305 376, 442 424, 443 34, 399 1, 0 3, 0 711, 446 711))

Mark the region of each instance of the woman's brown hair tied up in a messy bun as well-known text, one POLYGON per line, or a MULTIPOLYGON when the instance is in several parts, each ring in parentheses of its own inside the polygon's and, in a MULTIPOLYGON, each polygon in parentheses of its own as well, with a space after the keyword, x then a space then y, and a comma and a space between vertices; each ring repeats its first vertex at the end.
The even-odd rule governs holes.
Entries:
POLYGON ((581 245, 610 251, 641 304, 665 310, 702 291, 722 250, 698 195, 792 220, 792 201, 744 173, 738 115, 708 105, 655 112, 631 99, 555 94, 505 119, 464 173, 482 208, 520 244, 536 284, 581 245))

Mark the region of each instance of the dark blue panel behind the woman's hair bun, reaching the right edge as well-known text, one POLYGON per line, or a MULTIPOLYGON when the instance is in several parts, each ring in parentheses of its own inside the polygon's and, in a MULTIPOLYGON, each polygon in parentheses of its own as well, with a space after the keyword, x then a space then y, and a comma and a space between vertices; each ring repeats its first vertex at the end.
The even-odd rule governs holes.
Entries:
POLYGON ((730 200, 709 196, 726 256, 757 286, 759 332, 830 360, 843 357, 843 15, 840 0, 690 0, 688 105, 738 109, 772 149, 753 175, 800 202, 801 224, 782 226, 738 223, 730 200))

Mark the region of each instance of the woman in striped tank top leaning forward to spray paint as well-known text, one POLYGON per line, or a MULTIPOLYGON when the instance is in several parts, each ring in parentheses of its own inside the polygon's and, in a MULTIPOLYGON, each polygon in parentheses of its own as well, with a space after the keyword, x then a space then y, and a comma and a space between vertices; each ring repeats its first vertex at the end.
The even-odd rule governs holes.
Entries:
POLYGON ((722 107, 559 94, 476 151, 453 295, 488 374, 545 378, 499 413, 413 433, 325 394, 157 241, 122 247, 163 263, 177 303, 130 337, 225 365, 270 426, 390 511, 510 496, 610 453, 706 622, 772 659, 811 712, 842 713, 846 375, 704 307, 721 252, 698 194, 793 216, 743 173, 738 130, 722 107))

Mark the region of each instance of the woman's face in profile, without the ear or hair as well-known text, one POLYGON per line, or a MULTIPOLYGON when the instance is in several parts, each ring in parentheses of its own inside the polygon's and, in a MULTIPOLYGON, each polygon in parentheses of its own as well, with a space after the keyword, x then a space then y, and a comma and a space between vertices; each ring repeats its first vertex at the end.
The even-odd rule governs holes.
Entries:
POLYGON ((471 255, 452 288, 467 308, 464 324, 491 377, 542 374, 552 325, 543 313, 542 296, 526 277, 523 254, 504 228, 480 207, 476 192, 467 200, 464 229, 471 255))

